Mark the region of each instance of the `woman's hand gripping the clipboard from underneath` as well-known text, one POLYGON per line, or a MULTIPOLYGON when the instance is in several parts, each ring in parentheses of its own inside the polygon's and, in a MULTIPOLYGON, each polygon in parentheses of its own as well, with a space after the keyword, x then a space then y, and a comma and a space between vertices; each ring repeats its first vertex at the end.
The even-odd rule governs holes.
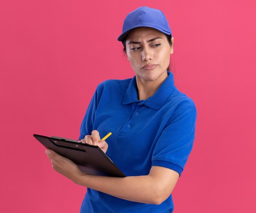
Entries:
POLYGON ((74 183, 78 184, 79 177, 86 174, 70 159, 63 157, 50 149, 45 150, 45 153, 52 162, 52 168, 61 175, 71 179, 74 183))

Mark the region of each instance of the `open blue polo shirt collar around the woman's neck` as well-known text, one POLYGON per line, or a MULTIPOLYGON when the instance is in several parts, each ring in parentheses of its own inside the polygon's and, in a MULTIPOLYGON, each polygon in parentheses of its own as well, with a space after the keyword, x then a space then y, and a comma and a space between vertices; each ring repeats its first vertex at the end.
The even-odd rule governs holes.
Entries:
POLYGON ((153 94, 153 96, 150 96, 148 99, 141 101, 138 100, 136 76, 133 76, 132 80, 130 81, 129 87, 124 94, 123 104, 141 102, 141 104, 143 103, 150 108, 158 110, 173 92, 173 73, 167 71, 167 74, 167 78, 160 85, 155 94, 153 94))

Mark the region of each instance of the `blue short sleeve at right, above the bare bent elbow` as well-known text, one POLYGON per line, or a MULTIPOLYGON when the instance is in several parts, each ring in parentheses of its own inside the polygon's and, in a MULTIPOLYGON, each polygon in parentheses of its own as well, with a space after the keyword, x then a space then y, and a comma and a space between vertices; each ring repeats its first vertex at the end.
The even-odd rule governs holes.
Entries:
POLYGON ((152 155, 152 166, 163 166, 181 175, 195 139, 196 108, 175 112, 164 128, 152 155))

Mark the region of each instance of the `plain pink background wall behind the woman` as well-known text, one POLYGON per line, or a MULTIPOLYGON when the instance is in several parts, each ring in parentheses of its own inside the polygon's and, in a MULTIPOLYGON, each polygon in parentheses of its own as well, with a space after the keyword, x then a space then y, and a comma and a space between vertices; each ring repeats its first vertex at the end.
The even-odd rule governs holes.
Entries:
POLYGON ((32 135, 78 139, 97 85, 134 76, 117 37, 140 6, 166 14, 175 85, 198 110, 174 212, 256 212, 253 0, 1 1, 0 212, 79 212, 86 188, 32 135))

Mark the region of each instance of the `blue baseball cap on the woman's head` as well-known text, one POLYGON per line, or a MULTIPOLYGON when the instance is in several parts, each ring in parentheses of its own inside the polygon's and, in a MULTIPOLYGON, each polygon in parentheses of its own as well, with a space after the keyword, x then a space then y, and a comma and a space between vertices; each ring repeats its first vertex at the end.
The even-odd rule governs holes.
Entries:
POLYGON ((124 20, 122 34, 117 40, 123 41, 125 36, 137 27, 152 27, 164 34, 171 35, 171 28, 161 10, 150 7, 139 7, 128 13, 124 20))

